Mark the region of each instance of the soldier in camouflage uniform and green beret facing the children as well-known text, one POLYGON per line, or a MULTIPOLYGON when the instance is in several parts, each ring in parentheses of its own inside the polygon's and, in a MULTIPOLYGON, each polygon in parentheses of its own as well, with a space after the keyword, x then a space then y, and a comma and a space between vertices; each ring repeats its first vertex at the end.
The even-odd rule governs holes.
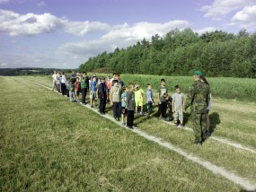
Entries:
POLYGON ((208 85, 200 81, 202 76, 200 71, 194 72, 195 82, 191 84, 185 101, 185 110, 190 107, 191 111, 192 128, 195 134, 194 144, 202 144, 206 138, 206 113, 210 94, 208 85))

